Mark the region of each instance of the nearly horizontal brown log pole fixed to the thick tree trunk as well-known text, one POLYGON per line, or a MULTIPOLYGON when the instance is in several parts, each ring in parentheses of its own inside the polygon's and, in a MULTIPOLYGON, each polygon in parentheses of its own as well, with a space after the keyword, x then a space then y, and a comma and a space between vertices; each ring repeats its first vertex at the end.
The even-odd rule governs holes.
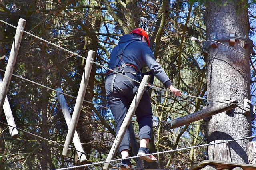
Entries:
POLYGON ((235 107, 238 107, 238 100, 232 99, 227 101, 228 104, 220 103, 213 107, 209 107, 207 109, 192 113, 190 115, 186 115, 184 117, 180 117, 178 119, 174 119, 169 121, 170 123, 169 128, 176 128, 180 127, 195 121, 199 121, 200 119, 204 119, 206 117, 210 117, 212 115, 216 115, 218 113, 222 113, 228 110, 231 110, 235 107))

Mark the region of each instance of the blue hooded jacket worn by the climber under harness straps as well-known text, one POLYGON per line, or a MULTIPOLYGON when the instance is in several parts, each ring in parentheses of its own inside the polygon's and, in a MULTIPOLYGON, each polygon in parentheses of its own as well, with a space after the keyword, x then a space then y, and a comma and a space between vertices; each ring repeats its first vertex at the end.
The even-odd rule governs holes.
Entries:
MULTIPOLYGON (((118 45, 114 47, 110 54, 110 61, 108 68, 113 69, 116 63, 117 57, 117 50, 124 45, 131 41, 131 40, 139 40, 134 41, 130 43, 125 49, 124 53, 122 54, 122 58, 124 60, 124 63, 129 67, 129 65, 132 65, 134 68, 134 72, 138 73, 140 69, 146 64, 148 68, 154 73, 156 78, 158 78, 166 87, 169 87, 172 85, 169 77, 166 75, 164 69, 156 62, 156 59, 151 51, 151 49, 148 47, 148 45, 145 42, 142 42, 137 37, 133 36, 132 34, 126 34, 124 36, 121 36, 120 41, 118 42, 118 45)), ((121 65, 120 61, 118 63, 118 67, 121 65)))

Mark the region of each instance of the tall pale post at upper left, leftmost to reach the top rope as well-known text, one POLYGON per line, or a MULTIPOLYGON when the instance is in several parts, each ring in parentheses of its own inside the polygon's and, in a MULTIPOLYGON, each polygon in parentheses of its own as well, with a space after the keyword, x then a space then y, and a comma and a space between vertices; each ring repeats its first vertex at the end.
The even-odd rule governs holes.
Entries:
POLYGON ((22 35, 23 35, 23 31, 24 31, 24 27, 26 24, 26 20, 24 19, 20 19, 18 22, 18 26, 16 29, 16 33, 15 33, 15 37, 14 37, 14 41, 12 43, 12 49, 10 52, 10 57, 8 59, 8 63, 6 66, 6 71, 4 74, 4 79, 2 82, 2 85, 0 87, 0 113, 2 113, 2 109, 4 106, 4 100, 8 91, 8 87, 10 85, 10 81, 11 81, 11 77, 12 77, 12 72, 14 69, 14 65, 16 62, 16 58, 18 55, 18 51, 20 48, 20 42, 22 39, 22 35))

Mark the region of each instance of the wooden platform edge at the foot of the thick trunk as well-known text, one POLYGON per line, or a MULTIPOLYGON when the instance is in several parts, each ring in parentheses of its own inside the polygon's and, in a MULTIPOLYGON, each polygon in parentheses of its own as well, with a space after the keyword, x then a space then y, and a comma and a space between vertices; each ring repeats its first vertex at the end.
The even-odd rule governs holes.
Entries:
POLYGON ((201 170, 202 168, 206 167, 207 165, 215 166, 217 170, 232 170, 232 168, 237 168, 237 167, 240 167, 243 170, 256 170, 255 165, 214 161, 214 160, 204 160, 204 161, 199 162, 198 164, 192 166, 191 168, 189 168, 189 170, 201 170))

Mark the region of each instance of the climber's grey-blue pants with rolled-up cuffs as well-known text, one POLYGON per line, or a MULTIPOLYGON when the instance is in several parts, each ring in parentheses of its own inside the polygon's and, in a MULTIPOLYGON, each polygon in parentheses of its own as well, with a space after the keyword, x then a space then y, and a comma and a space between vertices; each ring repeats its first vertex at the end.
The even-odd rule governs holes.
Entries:
MULTIPOLYGON (((134 75, 132 73, 126 73, 128 77, 135 79, 137 81, 141 81, 142 77, 140 75, 134 75)), ((133 85, 130 81, 121 75, 116 75, 116 79, 114 81, 114 93, 111 93, 111 83, 114 75, 110 75, 106 77, 105 87, 108 98, 108 106, 114 116, 116 123, 116 134, 118 133, 126 113, 130 107, 130 104, 134 98, 136 90, 134 90, 133 85)), ((134 82, 134 85, 139 86, 138 83, 134 82)), ((137 122, 139 124, 139 137, 140 140, 143 138, 151 139, 152 134, 152 108, 150 104, 150 97, 148 92, 145 91, 142 95, 142 99, 135 111, 135 115, 137 116, 137 122)), ((124 134, 124 138, 120 144, 119 152, 124 149, 130 150, 130 132, 129 129, 124 134)))

